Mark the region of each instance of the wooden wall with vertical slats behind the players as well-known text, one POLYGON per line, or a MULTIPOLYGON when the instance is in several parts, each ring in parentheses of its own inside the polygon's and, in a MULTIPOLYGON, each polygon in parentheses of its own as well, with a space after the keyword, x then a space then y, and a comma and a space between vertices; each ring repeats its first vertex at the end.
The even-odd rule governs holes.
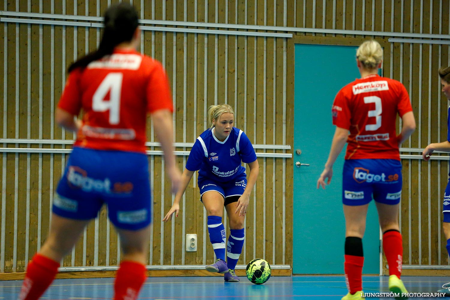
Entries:
MULTIPOLYGON (((94 16, 98 11, 103 14, 108 1, 99 1, 99 8, 92 1, 78 0, 76 5, 67 1, 65 9, 61 1, 55 1, 54 7, 50 2, 44 2, 40 6, 39 1, 31 1, 28 7, 27 1, 22 0, 18 3, 19 10, 94 16)), ((189 0, 186 7, 180 0, 157 0, 154 6, 152 1, 135 0, 133 4, 139 15, 146 19, 449 34, 450 4, 445 0, 433 1, 432 6, 420 1, 384 0, 384 7, 374 0, 189 0)), ((0 3, 2 10, 15 11, 16 8, 15 3, 8 3, 7 7, 4 7, 3 1, 0 3)), ((0 94, 5 91, 7 98, 6 120, 0 113, 2 137, 73 139, 72 133, 61 130, 51 120, 65 84, 67 67, 86 50, 95 49, 100 30, 1 22, 0 32, 0 74, 4 74, 4 67, 7 71, 7 85, 3 81, 0 83, 0 94), (7 39, 3 37, 5 28, 7 39), (4 45, 7 53, 4 52, 4 45), (40 45, 42 52, 39 51, 40 45), (50 52, 52 47, 53 57, 50 52), (4 121, 6 128, 3 128, 4 121), (6 134, 3 134, 4 131, 6 134)), ((370 37, 294 34, 293 39, 286 40, 144 31, 141 49, 163 63, 171 81, 175 103, 175 141, 194 142, 207 128, 207 107, 229 103, 235 110, 235 125, 247 133, 252 143, 293 145, 293 110, 290 107, 293 106, 294 91, 291 63, 294 42, 359 45, 362 39, 370 37)), ((439 90, 437 69, 450 64, 449 46, 394 43, 391 52, 387 37, 377 38, 383 41, 385 47, 384 75, 404 83, 410 93, 418 125, 420 120, 411 142, 406 142, 404 147, 424 148, 429 141, 446 139, 447 102, 439 90)), ((151 130, 148 131, 148 140, 154 140, 151 130)), ((8 147, 15 145, 8 144, 8 147)), ((49 144, 41 147, 70 148, 49 144)), ((5 178, 6 188, 2 197, 6 205, 1 207, 0 203, 0 208, 5 209, 7 215, 3 233, 5 250, 1 253, 5 257, 3 272, 23 272, 26 260, 45 240, 50 225, 53 190, 67 158, 65 154, 2 155, 6 174, 0 176, 0 181, 3 184, 5 178), (23 239, 27 233, 29 241, 23 239)), ((295 226, 292 223, 293 160, 258 158, 258 161, 260 176, 251 196, 246 220, 247 238, 238 264, 246 264, 254 256, 265 257, 272 264, 292 264, 291 229, 295 226), (285 237, 282 234, 284 231, 285 237)), ((180 168, 184 168, 186 157, 177 157, 177 162, 180 168)), ((161 157, 150 157, 149 164, 153 166, 154 225, 148 264, 210 264, 214 253, 205 232, 206 217, 199 202, 197 176, 194 175, 186 190, 182 200, 184 210, 180 211, 180 216, 162 224, 162 217, 171 207, 170 185, 163 172, 161 157), (197 252, 184 251, 182 245, 186 233, 198 234, 197 252)), ((446 161, 426 163, 403 160, 401 230, 404 234, 405 264, 448 264, 445 238, 441 224, 436 221, 441 220, 441 199, 447 184, 447 173, 446 161)), ((88 226, 75 250, 64 258, 63 266, 116 265, 120 260, 117 245, 117 233, 103 209, 97 224, 88 226), (98 242, 95 242, 96 238, 98 242), (109 245, 109 250, 104 247, 105 244, 109 245)))

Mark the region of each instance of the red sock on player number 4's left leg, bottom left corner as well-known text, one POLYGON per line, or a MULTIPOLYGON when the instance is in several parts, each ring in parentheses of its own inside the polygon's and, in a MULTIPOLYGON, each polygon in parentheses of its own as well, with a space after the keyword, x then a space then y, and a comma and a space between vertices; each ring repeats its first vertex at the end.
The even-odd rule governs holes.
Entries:
POLYGON ((19 300, 37 300, 58 273, 59 263, 36 253, 28 263, 19 300))

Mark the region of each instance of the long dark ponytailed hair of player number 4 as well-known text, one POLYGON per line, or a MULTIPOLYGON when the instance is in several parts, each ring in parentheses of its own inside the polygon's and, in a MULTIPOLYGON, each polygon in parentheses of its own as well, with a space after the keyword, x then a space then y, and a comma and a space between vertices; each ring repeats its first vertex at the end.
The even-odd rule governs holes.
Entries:
POLYGON ((67 72, 77 67, 86 67, 90 62, 112 54, 114 47, 122 42, 129 42, 138 27, 138 14, 133 6, 121 2, 110 6, 105 13, 104 28, 99 49, 72 63, 67 72))

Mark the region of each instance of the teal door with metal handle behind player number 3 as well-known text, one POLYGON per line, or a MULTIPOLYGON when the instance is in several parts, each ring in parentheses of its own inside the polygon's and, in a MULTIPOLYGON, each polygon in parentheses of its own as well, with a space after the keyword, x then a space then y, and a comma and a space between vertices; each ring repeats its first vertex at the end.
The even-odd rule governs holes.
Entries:
MULTIPOLYGON (((345 148, 333 166, 331 184, 316 182, 333 139, 331 106, 338 91, 359 78, 356 47, 295 45, 293 273, 344 273, 345 219, 342 166, 345 148), (298 155, 296 150, 301 150, 298 155), (310 166, 295 166, 295 162, 310 166)), ((380 272, 378 215, 369 205, 363 239, 365 274, 380 272)))

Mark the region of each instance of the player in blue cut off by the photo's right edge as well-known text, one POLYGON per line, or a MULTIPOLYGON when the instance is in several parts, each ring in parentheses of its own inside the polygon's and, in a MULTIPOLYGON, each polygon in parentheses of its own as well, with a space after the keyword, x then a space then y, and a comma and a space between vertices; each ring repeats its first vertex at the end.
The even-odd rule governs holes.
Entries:
MULTIPOLYGON (((442 67, 439 69, 439 76, 441 77, 442 91, 446 95, 447 99, 450 100, 450 67, 442 67)), ((430 159, 431 153, 433 151, 445 151, 450 152, 450 107, 449 116, 447 117, 447 140, 442 143, 431 143, 422 152, 422 157, 424 160, 428 161, 430 159)), ((450 174, 449 174, 450 175, 450 174)), ((444 193, 444 221, 442 223, 442 228, 444 229, 444 234, 447 240, 447 251, 450 255, 450 181, 447 184, 446 191, 444 193)), ((446 293, 446 296, 450 296, 450 282, 442 286, 442 289, 438 292, 446 293)))

